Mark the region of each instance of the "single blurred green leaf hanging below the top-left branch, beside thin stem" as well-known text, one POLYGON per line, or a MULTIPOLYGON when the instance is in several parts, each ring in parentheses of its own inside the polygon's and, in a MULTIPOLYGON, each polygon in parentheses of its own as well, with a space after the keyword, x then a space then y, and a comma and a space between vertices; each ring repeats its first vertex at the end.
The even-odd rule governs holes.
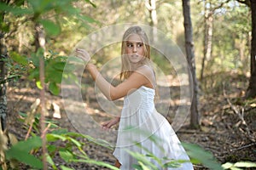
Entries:
POLYGON ((39 20, 39 22, 44 26, 44 29, 49 35, 57 36, 61 32, 61 26, 55 24, 51 20, 39 20))

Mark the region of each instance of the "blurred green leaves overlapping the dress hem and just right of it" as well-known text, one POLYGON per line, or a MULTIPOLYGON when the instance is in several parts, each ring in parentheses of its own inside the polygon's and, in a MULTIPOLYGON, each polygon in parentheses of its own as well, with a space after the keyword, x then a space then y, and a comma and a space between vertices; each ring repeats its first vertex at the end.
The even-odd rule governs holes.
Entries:
MULTIPOLYGON (((158 149, 162 150, 164 155, 165 150, 163 150, 162 148, 160 139, 154 137, 154 135, 148 139, 151 140, 156 145, 156 147, 159 147, 158 149)), ((187 151, 187 154, 189 155, 190 161, 192 163, 194 164, 201 163, 205 167, 209 167, 212 170, 222 169, 221 164, 218 163, 218 161, 216 160, 216 158, 214 158, 211 152, 204 150, 203 148, 201 148, 201 146, 197 144, 183 143, 182 145, 184 149, 187 151)), ((131 150, 126 150, 126 151, 131 156, 137 159, 138 164, 133 165, 133 167, 138 170, 147 170, 147 169, 157 170, 159 169, 159 167, 163 169, 166 167, 175 168, 175 167, 181 167, 183 163, 188 162, 188 160, 173 160, 166 156, 160 158, 160 157, 154 156, 153 153, 151 153, 146 147, 143 147, 141 144, 137 144, 137 147, 143 150, 145 154, 133 152, 131 150)))

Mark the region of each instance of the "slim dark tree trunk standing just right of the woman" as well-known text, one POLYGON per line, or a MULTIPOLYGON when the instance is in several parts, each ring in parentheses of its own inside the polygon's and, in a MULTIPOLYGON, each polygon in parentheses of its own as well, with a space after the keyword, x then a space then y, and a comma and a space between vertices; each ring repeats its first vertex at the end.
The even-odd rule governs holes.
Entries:
POLYGON ((197 80, 195 74, 195 54, 194 54, 194 42, 193 42, 193 29, 190 18, 190 1, 183 0, 183 17, 184 17, 184 28, 185 28, 185 48, 187 59, 189 63, 189 71, 192 75, 189 79, 190 93, 192 96, 192 105, 190 108, 190 126, 198 128, 200 126, 200 113, 198 111, 198 99, 197 99, 197 80))

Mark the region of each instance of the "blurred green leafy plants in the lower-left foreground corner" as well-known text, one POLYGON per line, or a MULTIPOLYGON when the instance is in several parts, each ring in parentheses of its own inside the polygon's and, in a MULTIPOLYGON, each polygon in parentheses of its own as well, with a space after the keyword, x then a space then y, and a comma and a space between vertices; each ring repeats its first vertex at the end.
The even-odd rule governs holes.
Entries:
MULTIPOLYGON (((20 116, 26 118, 26 114, 20 113, 20 116)), ((68 132, 67 129, 63 129, 56 125, 56 122, 47 120, 47 126, 49 126, 49 133, 46 134, 47 139, 47 161, 52 169, 59 169, 59 167, 55 164, 55 156, 59 155, 61 160, 66 163, 71 162, 84 162, 89 164, 95 164, 101 167, 108 167, 109 169, 117 170, 118 168, 109 165, 103 161, 96 161, 90 159, 89 156, 84 152, 83 147, 85 145, 84 142, 79 139, 87 140, 90 143, 102 145, 107 147, 109 150, 112 150, 111 147, 108 146, 106 141, 101 139, 93 139, 88 135, 84 135, 81 133, 73 133, 68 132), (60 143, 61 144, 56 144, 60 143)), ((39 128, 39 116, 35 116, 35 121, 33 122, 33 131, 32 138, 20 141, 17 144, 14 144, 9 150, 6 150, 5 155, 7 160, 15 159, 26 164, 29 167, 33 167, 34 169, 41 169, 43 164, 41 162, 40 157, 36 157, 34 155, 38 155, 40 152, 40 148, 42 146, 42 140, 38 137, 38 128, 39 128)), ((28 129, 28 127, 27 127, 28 129)), ((60 166, 61 169, 71 169, 64 165, 60 166)))

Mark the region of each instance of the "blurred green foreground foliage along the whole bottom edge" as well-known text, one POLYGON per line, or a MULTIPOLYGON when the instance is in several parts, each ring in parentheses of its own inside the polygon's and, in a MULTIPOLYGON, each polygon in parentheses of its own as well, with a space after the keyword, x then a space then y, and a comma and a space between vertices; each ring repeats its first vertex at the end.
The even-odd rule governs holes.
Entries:
MULTIPOLYGON (((26 114, 20 114, 23 118, 26 118, 26 114)), ((24 119, 23 119, 24 120, 24 119)), ((38 137, 38 127, 39 127, 39 116, 35 117, 35 122, 33 122, 33 131, 35 133, 32 133, 32 138, 27 140, 21 140, 17 144, 14 144, 9 150, 6 150, 6 158, 7 160, 15 159, 17 161, 20 161, 24 164, 26 164, 29 167, 33 167, 34 169, 38 169, 42 166, 41 164, 41 157, 38 157, 38 152, 40 152, 41 148, 41 139, 38 137)), ((85 144, 83 141, 88 141, 89 143, 94 143, 101 145, 102 147, 106 147, 109 150, 113 150, 113 148, 109 147, 110 144, 108 142, 103 141, 101 139, 94 139, 88 135, 81 134, 81 133, 74 133, 69 132, 67 129, 63 129, 61 127, 58 127, 56 122, 46 120, 46 124, 49 127, 49 133, 46 134, 47 139, 47 161, 49 163, 49 166, 52 169, 71 169, 70 167, 65 166, 66 163, 88 163, 88 164, 94 164, 100 167, 108 167, 109 169, 118 169, 116 167, 113 167, 112 165, 109 165, 108 163, 104 161, 96 161, 93 159, 90 159, 90 157, 84 152, 83 147, 85 144), (55 163, 55 156, 59 155, 61 157, 61 160, 65 163, 62 163, 62 165, 59 167, 55 163)), ((28 127, 26 127, 28 129, 28 127)), ((153 140, 153 142, 157 142, 154 138, 150 138, 153 140)), ((140 144, 137 144, 138 147, 142 147, 140 144)), ((255 163, 253 162, 236 162, 236 163, 224 163, 222 167, 218 163, 218 161, 215 160, 215 158, 212 156, 212 153, 210 153, 207 150, 202 149, 197 144, 188 144, 183 143, 183 147, 187 150, 187 153, 190 156, 191 161, 194 164, 201 163, 205 167, 209 167, 210 169, 238 169, 238 167, 255 167, 255 163)), ((142 148, 143 150, 146 150, 145 148, 142 148)), ((148 169, 157 169, 155 165, 152 164, 152 162, 148 161, 148 158, 151 158, 152 160, 159 163, 161 167, 179 167, 180 163, 183 163, 185 161, 183 160, 169 160, 168 158, 164 157, 162 159, 154 156, 152 153, 149 153, 147 151, 147 154, 139 154, 136 152, 131 152, 127 150, 131 156, 134 156, 138 164, 134 165, 135 169, 138 170, 148 170, 148 169)))

